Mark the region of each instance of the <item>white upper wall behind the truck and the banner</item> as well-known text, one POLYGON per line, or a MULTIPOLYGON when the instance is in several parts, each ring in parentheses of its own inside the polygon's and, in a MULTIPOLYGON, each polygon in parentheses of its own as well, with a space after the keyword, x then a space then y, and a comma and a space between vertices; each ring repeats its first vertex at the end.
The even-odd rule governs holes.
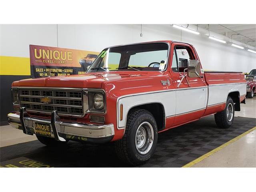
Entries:
MULTIPOLYGON (((58 25, 58 46, 100 52, 107 46, 175 40, 188 42, 196 48, 204 69, 250 72, 256 68, 256 54, 222 44, 207 36, 182 32, 169 24, 142 25, 58 25)), ((1 25, 0 56, 29 57, 29 44, 57 46, 56 25, 1 25)))

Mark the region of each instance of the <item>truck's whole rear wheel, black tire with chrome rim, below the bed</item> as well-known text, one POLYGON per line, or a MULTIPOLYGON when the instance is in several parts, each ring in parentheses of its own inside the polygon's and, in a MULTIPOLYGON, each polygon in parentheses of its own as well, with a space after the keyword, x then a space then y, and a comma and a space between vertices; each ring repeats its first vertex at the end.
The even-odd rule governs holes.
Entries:
POLYGON ((232 98, 228 96, 225 109, 221 112, 214 114, 214 119, 218 127, 229 128, 234 121, 234 115, 234 102, 232 98))

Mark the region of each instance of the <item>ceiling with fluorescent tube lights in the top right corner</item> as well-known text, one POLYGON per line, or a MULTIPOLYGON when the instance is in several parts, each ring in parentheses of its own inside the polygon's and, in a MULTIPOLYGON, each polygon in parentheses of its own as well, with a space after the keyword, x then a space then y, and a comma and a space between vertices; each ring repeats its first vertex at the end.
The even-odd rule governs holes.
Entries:
MULTIPOLYGON (((199 27, 208 30, 208 24, 199 24, 199 27)), ((231 38, 232 34, 239 33, 241 35, 233 35, 232 40, 236 40, 244 44, 248 41, 256 41, 256 24, 209 24, 209 28, 210 31, 222 34, 229 38, 231 38)), ((248 45, 256 47, 256 42, 248 42, 248 45)))

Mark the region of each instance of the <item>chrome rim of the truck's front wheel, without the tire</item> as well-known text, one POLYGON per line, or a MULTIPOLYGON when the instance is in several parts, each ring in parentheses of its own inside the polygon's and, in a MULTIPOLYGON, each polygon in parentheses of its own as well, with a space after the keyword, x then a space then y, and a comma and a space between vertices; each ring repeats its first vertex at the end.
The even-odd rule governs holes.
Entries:
POLYGON ((153 127, 149 122, 143 122, 136 130, 135 146, 140 154, 149 152, 154 141, 153 127))

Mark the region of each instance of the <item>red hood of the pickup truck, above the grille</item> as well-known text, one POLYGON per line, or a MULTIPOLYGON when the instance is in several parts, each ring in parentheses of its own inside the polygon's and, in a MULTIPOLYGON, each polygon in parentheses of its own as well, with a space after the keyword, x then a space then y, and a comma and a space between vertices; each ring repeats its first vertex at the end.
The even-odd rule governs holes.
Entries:
POLYGON ((12 83, 13 87, 67 87, 101 88, 103 82, 123 78, 142 78, 147 73, 88 73, 82 75, 56 76, 47 78, 24 79, 12 83))

